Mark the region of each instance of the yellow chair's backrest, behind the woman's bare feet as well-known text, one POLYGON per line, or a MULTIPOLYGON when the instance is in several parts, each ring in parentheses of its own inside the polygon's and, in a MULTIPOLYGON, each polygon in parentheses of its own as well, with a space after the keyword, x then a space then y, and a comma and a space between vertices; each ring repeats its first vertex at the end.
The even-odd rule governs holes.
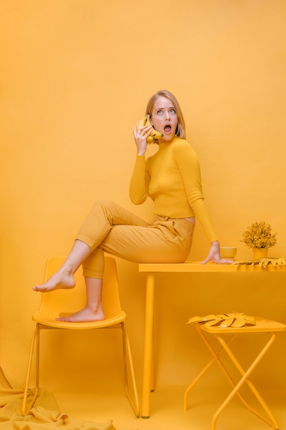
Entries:
MULTIPOLYGON (((65 256, 51 257, 47 260, 44 282, 51 278, 65 260, 65 256)), ((40 313, 48 317, 58 317, 74 313, 86 303, 86 288, 82 269, 75 273, 75 288, 58 289, 42 293, 40 313)), ((106 318, 112 318, 121 312, 119 284, 115 258, 105 256, 104 278, 102 286, 102 307, 106 318)))

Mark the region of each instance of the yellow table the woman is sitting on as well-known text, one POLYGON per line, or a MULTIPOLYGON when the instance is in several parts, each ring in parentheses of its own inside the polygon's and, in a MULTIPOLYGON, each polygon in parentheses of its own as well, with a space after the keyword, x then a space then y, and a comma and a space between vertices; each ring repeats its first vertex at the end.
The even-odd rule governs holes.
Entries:
POLYGON ((283 271, 285 266, 259 267, 257 264, 200 264, 200 262, 184 262, 171 264, 141 263, 139 272, 147 273, 146 302, 145 302, 145 335, 143 357, 143 390, 141 418, 150 418, 150 396, 152 390, 152 354, 153 354, 153 324, 154 324, 154 289, 155 273, 239 273, 239 272, 274 272, 283 271))

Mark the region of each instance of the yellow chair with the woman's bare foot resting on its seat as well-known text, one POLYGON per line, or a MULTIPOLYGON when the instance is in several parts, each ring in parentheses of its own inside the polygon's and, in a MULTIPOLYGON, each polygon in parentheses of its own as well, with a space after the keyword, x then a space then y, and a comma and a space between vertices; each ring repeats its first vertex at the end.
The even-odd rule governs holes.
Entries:
MULTIPOLYGON (((48 280, 51 275, 58 270, 64 262, 65 257, 53 257, 47 260, 45 269, 45 279, 48 280)), ((86 299, 86 289, 84 277, 79 269, 75 273, 76 286, 73 289, 58 289, 49 293, 42 293, 40 308, 34 313, 32 319, 36 322, 36 329, 32 336, 31 348, 29 352, 29 361, 27 368, 27 378, 25 383, 22 414, 25 415, 32 408, 38 396, 39 389, 39 363, 40 363, 40 330, 41 329, 66 329, 66 330, 91 330, 98 328, 120 328, 123 339, 123 365, 125 389, 130 405, 137 417, 139 417, 139 400, 134 377, 134 367, 130 350, 130 342, 124 326, 126 313, 121 309, 119 299, 119 287, 117 278, 117 266, 115 258, 105 256, 105 270, 102 288, 102 306, 106 319, 103 321, 71 323, 56 321, 56 317, 64 314, 74 313, 76 310, 84 307, 86 299), (32 367, 32 357, 36 341, 36 388, 31 403, 27 407, 27 395, 29 390, 29 379, 32 367)))

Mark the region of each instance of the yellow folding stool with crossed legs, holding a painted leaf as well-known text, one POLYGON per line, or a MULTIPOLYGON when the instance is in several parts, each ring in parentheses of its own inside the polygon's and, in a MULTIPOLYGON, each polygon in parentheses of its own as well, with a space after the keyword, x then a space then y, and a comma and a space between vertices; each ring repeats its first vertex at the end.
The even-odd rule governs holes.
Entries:
MULTIPOLYGON (((252 317, 250 317, 252 318, 252 317)), ((200 378, 206 373, 206 371, 213 365, 213 363, 217 362, 219 367, 221 368, 222 372, 226 375, 226 378, 230 382, 230 385, 232 385, 233 390, 230 392, 226 400, 222 403, 222 405, 217 409, 215 414, 213 415, 213 419, 211 421, 211 430, 215 430, 215 425, 217 422, 218 416, 222 413, 222 411, 225 409, 225 407, 230 403, 230 400, 237 394, 243 405, 251 411, 253 414, 261 418, 264 422, 266 422, 272 429, 279 429, 278 422, 272 415, 272 412, 270 411, 269 407, 266 405, 265 401, 257 391, 257 388, 254 387, 253 383, 250 381, 250 374, 254 370, 255 367, 257 367, 257 364, 261 361, 263 356, 265 355, 265 352, 269 350, 270 346, 274 342, 276 338, 277 332, 285 332, 286 326, 285 324, 281 324, 276 321, 270 321, 269 319, 263 319, 261 317, 255 317, 255 325, 248 325, 241 327, 235 327, 235 326, 208 326, 208 324, 197 324, 197 329, 200 334, 200 337, 202 337, 202 340, 206 344, 208 350, 211 351, 211 354, 213 355, 213 359, 209 361, 209 363, 204 367, 204 369, 198 374, 198 376, 193 380, 193 382, 187 387, 185 393, 184 393, 184 410, 187 411, 187 400, 190 390, 193 388, 195 383, 197 383, 200 378), (266 343, 263 346, 262 350, 257 354, 257 357, 254 359, 254 361, 249 365, 247 370, 244 370, 235 355, 233 354, 233 351, 230 350, 229 344, 232 342, 237 335, 261 335, 265 334, 267 335, 266 343), (215 348, 211 345, 208 338, 209 335, 214 336, 217 341, 219 341, 221 348, 215 351, 215 348), (222 352, 226 352, 228 357, 230 358, 230 361, 235 365, 237 370, 239 371, 239 374, 241 375, 241 378, 237 383, 233 380, 232 376, 230 376, 229 371, 226 369, 226 362, 223 363, 220 356, 222 352), (246 383, 254 396, 259 401, 261 407, 264 409, 267 416, 261 414, 259 411, 251 407, 245 398, 243 398, 240 389, 242 385, 246 383)), ((192 321, 189 321, 192 322, 192 321)), ((198 321, 195 321, 198 322, 198 321)), ((243 356, 246 356, 246 350, 243 350, 243 356)))

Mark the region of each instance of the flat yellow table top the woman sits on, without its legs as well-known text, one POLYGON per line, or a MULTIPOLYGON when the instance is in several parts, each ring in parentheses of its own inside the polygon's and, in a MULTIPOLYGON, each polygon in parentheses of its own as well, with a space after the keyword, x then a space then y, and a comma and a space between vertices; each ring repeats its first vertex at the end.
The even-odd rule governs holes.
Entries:
POLYGON ((272 272, 286 273, 286 266, 276 266, 267 264, 266 267, 259 267, 258 264, 201 264, 198 261, 188 261, 184 263, 139 263, 139 272, 152 273, 237 273, 237 272, 272 272))

